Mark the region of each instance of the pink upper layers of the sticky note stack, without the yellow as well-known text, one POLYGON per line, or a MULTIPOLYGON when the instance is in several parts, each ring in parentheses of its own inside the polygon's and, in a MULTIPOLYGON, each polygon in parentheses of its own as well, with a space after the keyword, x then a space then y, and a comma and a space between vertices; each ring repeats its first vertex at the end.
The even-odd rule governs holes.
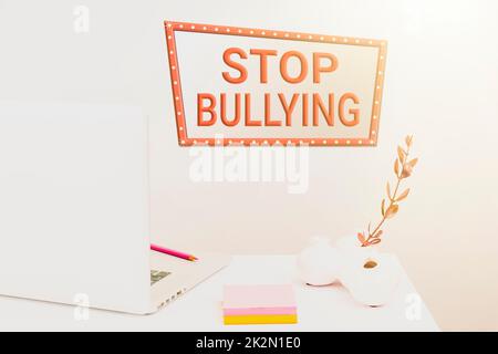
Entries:
POLYGON ((225 315, 297 314, 292 285, 226 285, 225 315))

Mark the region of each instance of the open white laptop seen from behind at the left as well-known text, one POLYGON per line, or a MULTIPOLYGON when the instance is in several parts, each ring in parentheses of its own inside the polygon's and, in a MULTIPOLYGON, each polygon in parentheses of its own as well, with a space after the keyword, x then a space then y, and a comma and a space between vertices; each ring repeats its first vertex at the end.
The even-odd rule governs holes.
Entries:
POLYGON ((228 264, 149 250, 147 129, 133 107, 0 103, 1 295, 148 314, 228 264))

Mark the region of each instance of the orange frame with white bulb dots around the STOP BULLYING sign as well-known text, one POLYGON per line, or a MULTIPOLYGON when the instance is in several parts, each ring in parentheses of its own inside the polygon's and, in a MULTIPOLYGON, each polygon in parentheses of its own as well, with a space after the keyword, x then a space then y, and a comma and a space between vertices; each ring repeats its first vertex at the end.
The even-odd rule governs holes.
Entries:
POLYGON ((307 145, 307 146, 376 146, 378 139, 378 126, 381 116, 381 104, 383 95, 384 72, 386 63, 387 43, 383 40, 361 39, 351 37, 323 35, 290 31, 273 31, 261 29, 249 29, 226 25, 200 24, 190 22, 165 21, 166 42, 168 49, 169 72, 172 79, 172 88, 175 105, 175 117, 177 124, 178 144, 180 146, 251 146, 251 145, 307 145), (367 137, 344 138, 344 137, 324 137, 324 138, 231 138, 225 137, 222 140, 216 137, 191 138, 187 134, 187 125, 185 121, 184 101, 181 94, 181 80, 179 63, 176 50, 175 33, 198 32, 224 35, 281 39, 284 41, 304 41, 321 42, 332 44, 346 44, 360 46, 378 48, 378 56, 376 64, 374 102, 372 105, 372 116, 370 124, 370 135, 367 137))

